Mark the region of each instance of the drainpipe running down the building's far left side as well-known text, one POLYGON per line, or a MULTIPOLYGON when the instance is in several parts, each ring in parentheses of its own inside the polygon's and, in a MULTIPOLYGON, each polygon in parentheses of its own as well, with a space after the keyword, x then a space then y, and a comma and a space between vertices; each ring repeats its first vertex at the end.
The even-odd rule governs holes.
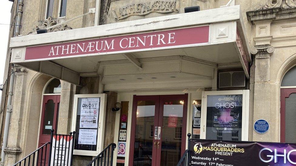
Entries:
MULTIPOLYGON (((22 13, 23 13, 23 6, 24 6, 24 0, 18 0, 18 6, 17 6, 17 18, 15 23, 15 30, 14 30, 14 37, 17 37, 19 35, 21 21, 22 21, 22 13)), ((13 64, 12 64, 13 67, 13 64)), ((10 117, 12 112, 12 95, 13 95, 13 84, 14 84, 14 71, 12 70, 12 73, 10 75, 10 81, 9 81, 9 92, 8 92, 8 100, 7 100, 7 107, 6 107, 6 116, 5 116, 5 125, 4 125, 4 133, 3 133, 3 145, 1 150, 1 164, 4 164, 5 160, 5 154, 4 149, 7 147, 7 140, 8 140, 8 130, 10 125, 10 117)))

